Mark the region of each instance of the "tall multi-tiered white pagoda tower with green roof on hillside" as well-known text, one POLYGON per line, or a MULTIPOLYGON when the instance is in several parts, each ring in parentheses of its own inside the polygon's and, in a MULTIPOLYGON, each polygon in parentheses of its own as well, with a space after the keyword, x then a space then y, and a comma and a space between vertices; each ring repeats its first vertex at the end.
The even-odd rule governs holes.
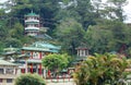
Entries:
POLYGON ((25 34, 27 36, 37 36, 39 34, 40 23, 39 15, 34 13, 33 11, 26 15, 25 17, 25 34))

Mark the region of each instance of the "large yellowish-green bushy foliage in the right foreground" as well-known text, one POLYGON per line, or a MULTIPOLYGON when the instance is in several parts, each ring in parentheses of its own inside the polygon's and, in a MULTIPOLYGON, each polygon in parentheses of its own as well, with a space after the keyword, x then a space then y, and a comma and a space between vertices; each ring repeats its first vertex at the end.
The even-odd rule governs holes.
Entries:
POLYGON ((74 73, 76 85, 115 85, 118 80, 126 77, 128 66, 124 58, 117 54, 96 54, 88 57, 74 73))

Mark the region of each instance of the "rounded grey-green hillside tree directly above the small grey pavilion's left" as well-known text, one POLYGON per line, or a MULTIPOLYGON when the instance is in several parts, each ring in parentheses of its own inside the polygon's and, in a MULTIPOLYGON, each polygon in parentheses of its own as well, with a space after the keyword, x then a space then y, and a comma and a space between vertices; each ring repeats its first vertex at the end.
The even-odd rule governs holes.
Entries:
POLYGON ((75 54, 75 48, 83 42, 85 31, 82 25, 73 19, 62 21, 56 28, 55 35, 61 42, 64 51, 71 50, 75 54))

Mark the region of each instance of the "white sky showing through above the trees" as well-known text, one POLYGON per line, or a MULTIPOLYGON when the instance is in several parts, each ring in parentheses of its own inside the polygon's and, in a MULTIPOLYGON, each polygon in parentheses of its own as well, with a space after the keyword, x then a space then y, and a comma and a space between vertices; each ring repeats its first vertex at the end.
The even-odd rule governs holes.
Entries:
MULTIPOLYGON (((4 2, 7 0, 0 0, 0 2, 4 2)), ((103 1, 106 1, 106 0, 103 0, 103 1)), ((124 5, 123 10, 124 10, 124 15, 127 15, 126 17, 126 23, 131 23, 131 0, 128 0, 128 4, 124 5)))

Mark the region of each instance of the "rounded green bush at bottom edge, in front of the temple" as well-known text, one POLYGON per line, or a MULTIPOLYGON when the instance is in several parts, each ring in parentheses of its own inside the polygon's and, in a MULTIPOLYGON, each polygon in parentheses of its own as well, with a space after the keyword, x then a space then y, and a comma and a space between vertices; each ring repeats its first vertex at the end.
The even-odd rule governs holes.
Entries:
POLYGON ((46 85, 46 82, 37 74, 22 74, 16 77, 14 85, 46 85))

